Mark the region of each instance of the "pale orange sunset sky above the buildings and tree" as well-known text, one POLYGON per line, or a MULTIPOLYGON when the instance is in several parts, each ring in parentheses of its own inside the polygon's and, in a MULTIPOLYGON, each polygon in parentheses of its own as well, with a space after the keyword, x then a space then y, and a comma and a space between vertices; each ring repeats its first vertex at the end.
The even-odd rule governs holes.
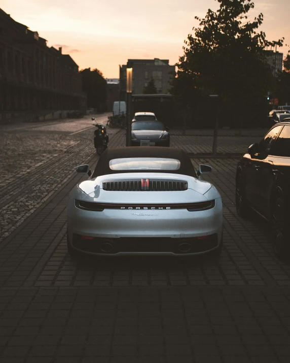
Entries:
MULTIPOLYGON (((249 20, 264 14, 261 30, 268 40, 290 44, 290 0, 253 0, 249 20)), ((106 78, 119 78, 128 58, 169 59, 183 55, 183 44, 195 16, 217 10, 214 0, 0 0, 11 17, 38 31, 48 46, 62 46, 80 69, 98 68, 106 78)), ((284 53, 290 48, 279 50, 284 53)))

